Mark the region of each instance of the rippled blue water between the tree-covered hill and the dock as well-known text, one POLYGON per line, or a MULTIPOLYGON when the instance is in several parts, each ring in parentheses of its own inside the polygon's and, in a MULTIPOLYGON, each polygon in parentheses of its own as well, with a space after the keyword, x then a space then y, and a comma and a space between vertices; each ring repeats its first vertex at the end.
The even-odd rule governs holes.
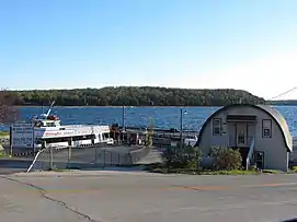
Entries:
MULTIPOLYGON (((183 107, 183 129, 199 130, 206 118, 219 107, 183 107)), ((297 136, 297 106, 275 106, 286 118, 290 132, 297 136)), ((148 127, 152 118, 153 127, 180 129, 181 107, 125 107, 125 126, 148 127)), ((44 109, 44 113, 46 109, 44 109)), ((43 113, 42 107, 22 107, 22 119, 30 119, 43 113)), ((62 125, 96 124, 112 125, 123 122, 122 107, 55 107, 53 114, 59 116, 62 125)), ((7 130, 8 127, 0 127, 7 130)))

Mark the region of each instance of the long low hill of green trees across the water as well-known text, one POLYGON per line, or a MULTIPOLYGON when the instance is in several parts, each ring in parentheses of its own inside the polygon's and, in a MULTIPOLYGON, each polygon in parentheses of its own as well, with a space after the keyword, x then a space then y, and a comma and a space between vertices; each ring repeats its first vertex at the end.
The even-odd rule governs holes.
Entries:
POLYGON ((14 105, 57 106, 222 106, 263 104, 262 97, 242 90, 191 90, 152 86, 11 91, 14 105))

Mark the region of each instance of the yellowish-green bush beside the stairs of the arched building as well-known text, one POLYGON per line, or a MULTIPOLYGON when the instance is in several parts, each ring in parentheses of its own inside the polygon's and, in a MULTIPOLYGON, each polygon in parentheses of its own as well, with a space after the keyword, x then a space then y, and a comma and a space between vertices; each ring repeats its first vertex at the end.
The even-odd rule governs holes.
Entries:
POLYGON ((238 149, 225 147, 210 149, 210 156, 214 160, 214 170, 232 171, 242 168, 242 157, 238 149))

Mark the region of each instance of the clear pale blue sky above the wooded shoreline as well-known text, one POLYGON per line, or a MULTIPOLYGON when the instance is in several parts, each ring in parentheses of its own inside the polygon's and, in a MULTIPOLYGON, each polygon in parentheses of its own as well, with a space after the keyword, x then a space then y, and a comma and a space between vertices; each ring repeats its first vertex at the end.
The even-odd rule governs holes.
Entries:
POLYGON ((296 0, 0 0, 0 87, 231 87, 271 98, 297 86, 296 9, 296 0))

